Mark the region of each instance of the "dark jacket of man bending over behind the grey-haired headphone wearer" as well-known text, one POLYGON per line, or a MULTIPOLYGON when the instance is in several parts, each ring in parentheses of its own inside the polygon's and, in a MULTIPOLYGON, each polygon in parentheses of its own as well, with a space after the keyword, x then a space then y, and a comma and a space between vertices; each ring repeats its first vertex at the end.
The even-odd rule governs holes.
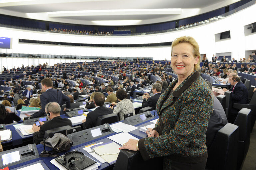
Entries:
POLYGON ((46 115, 45 105, 49 102, 59 103, 59 105, 61 106, 61 115, 64 114, 63 108, 62 108, 62 105, 64 103, 66 103, 66 108, 70 108, 70 99, 69 99, 69 97, 64 95, 60 90, 58 92, 58 100, 57 100, 57 90, 49 89, 40 96, 40 101, 41 101, 40 111, 31 115, 34 118, 38 118, 38 117, 46 115))

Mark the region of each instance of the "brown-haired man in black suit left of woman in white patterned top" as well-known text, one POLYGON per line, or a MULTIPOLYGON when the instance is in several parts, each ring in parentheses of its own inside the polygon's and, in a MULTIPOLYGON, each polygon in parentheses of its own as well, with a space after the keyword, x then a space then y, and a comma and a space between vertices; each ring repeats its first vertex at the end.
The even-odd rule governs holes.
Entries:
POLYGON ((104 107, 105 96, 102 93, 97 93, 94 96, 94 104, 96 109, 87 114, 86 119, 82 121, 83 129, 93 128, 96 126, 96 121, 99 116, 108 115, 113 113, 111 108, 104 107))

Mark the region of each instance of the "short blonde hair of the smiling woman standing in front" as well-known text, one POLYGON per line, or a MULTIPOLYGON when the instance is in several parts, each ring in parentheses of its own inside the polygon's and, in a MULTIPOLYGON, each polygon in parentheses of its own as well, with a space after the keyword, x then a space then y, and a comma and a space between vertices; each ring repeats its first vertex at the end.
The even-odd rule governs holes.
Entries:
POLYGON ((201 56, 200 56, 200 52, 199 52, 199 45, 198 43, 195 41, 195 39, 193 37, 186 37, 186 36, 183 36, 183 37, 179 37, 179 38, 176 38, 172 44, 171 44, 171 55, 172 55, 172 48, 175 46, 175 45, 178 45, 179 43, 183 43, 183 42, 186 42, 186 43, 189 43, 193 46, 193 55, 194 57, 196 58, 197 56, 199 57, 198 58, 198 62, 197 64, 194 65, 194 70, 200 70, 200 60, 201 60, 201 56))

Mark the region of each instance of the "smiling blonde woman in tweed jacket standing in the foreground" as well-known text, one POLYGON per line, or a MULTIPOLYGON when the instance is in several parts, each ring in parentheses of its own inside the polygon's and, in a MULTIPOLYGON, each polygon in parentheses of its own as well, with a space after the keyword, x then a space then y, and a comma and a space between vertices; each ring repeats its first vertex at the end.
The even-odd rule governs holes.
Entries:
POLYGON ((204 170, 205 132, 213 96, 199 73, 200 52, 192 37, 172 42, 171 67, 178 78, 159 97, 159 119, 147 138, 129 139, 120 149, 139 150, 142 158, 163 157, 163 169, 204 170), (188 168, 189 167, 189 168, 188 168))

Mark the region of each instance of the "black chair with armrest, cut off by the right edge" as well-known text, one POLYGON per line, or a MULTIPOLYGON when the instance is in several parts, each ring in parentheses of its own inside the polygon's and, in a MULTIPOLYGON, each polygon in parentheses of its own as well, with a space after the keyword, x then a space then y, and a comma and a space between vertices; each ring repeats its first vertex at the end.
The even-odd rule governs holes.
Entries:
POLYGON ((251 98, 251 101, 249 104, 240 104, 240 103, 234 103, 233 105, 234 108, 236 109, 243 109, 243 108, 247 108, 252 110, 251 111, 251 115, 252 115, 252 119, 251 119, 251 131, 254 127, 255 121, 256 121, 256 91, 253 93, 253 96, 251 98))

